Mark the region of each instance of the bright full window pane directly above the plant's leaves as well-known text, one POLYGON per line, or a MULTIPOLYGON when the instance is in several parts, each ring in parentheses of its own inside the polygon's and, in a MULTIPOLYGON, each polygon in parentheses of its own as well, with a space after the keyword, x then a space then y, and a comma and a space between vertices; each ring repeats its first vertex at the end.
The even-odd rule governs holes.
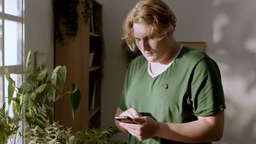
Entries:
POLYGON ((4 65, 21 64, 21 22, 4 20, 4 65))

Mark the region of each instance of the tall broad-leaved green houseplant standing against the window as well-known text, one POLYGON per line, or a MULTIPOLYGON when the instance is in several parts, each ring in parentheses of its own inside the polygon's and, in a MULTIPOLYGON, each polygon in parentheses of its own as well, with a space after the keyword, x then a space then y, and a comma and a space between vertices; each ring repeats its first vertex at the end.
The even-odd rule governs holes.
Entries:
POLYGON ((0 109, 0 144, 7 143, 8 140, 15 144, 20 136, 28 137, 25 130, 19 131, 19 123, 28 123, 27 130, 45 130, 46 125, 54 124, 53 106, 55 101, 65 94, 70 94, 73 118, 80 102, 79 88, 75 88, 72 83, 71 92, 62 94, 62 89, 66 80, 66 67, 57 66, 53 74, 48 78, 48 68, 39 67, 36 70, 28 70, 31 65, 32 50, 28 52, 26 60, 26 70, 21 71, 25 76, 25 82, 17 87, 15 81, 10 77, 10 72, 5 69, 5 77, 9 81, 8 85, 8 107, 4 103, 0 109), (16 91, 16 97, 13 97, 16 91), (14 117, 9 116, 10 105, 12 105, 14 117), (26 117, 26 119, 24 119, 26 117))

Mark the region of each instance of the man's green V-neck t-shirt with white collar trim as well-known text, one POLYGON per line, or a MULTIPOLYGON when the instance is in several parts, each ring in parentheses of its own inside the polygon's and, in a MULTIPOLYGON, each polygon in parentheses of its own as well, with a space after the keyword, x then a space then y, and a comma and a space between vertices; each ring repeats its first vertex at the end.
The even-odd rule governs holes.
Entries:
MULTIPOLYGON (((205 53, 183 47, 170 67, 155 77, 149 75, 148 63, 139 56, 129 65, 118 105, 121 110, 134 107, 158 122, 186 123, 226 108, 220 71, 205 53)), ((127 143, 182 142, 161 137, 139 141, 129 134, 127 143)))

